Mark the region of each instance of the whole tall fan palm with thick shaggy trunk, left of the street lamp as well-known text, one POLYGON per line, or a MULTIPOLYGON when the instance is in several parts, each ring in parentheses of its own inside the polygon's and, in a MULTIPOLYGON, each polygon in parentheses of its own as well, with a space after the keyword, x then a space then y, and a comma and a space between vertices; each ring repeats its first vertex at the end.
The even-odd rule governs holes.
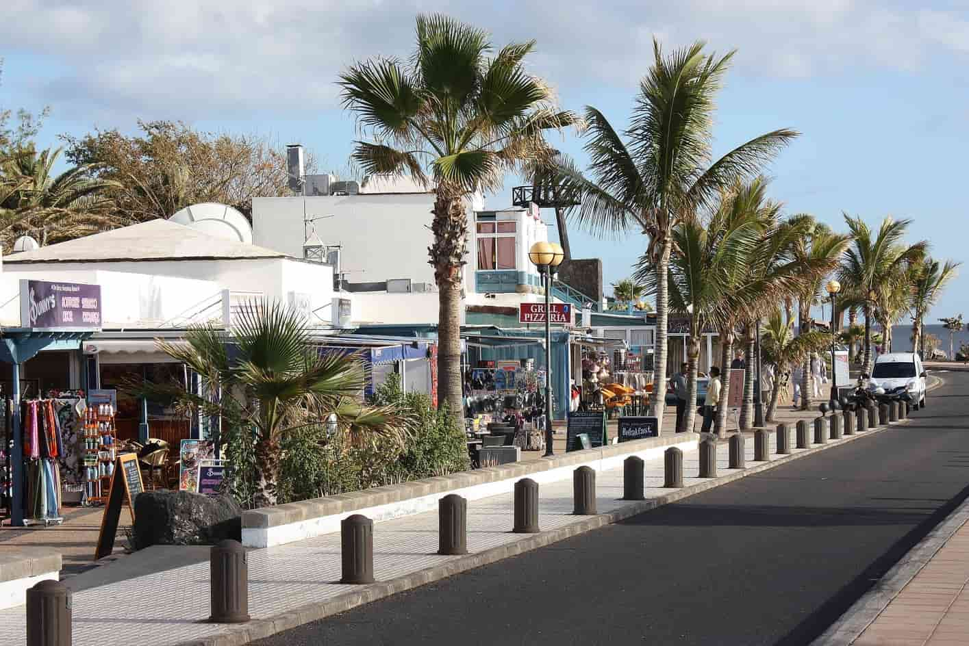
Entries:
POLYGON ((506 170, 550 159, 544 132, 577 123, 547 83, 525 71, 535 42, 494 56, 485 31, 445 15, 419 15, 410 64, 373 58, 340 76, 344 108, 371 141, 353 158, 366 172, 403 172, 435 185, 428 249, 439 292, 440 401, 461 414, 460 308, 467 252, 464 200, 496 189, 506 170), (429 168, 428 168, 429 167, 429 168))

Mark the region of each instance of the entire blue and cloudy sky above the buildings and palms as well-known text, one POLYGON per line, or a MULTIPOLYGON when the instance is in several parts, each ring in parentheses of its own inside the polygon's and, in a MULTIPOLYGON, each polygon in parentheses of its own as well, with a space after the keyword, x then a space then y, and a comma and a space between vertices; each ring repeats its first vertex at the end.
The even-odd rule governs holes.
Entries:
MULTIPOLYGON (((321 171, 346 168, 359 133, 334 83, 349 64, 406 57, 414 18, 442 12, 487 29, 495 46, 536 39, 531 73, 562 108, 591 105, 616 129, 664 47, 703 40, 736 49, 717 98, 714 154, 781 127, 801 136, 766 168, 789 213, 844 230, 912 220, 910 241, 962 261, 926 323, 969 315, 965 149, 969 145, 969 0, 4 0, 0 108, 50 108, 42 143, 95 127, 180 119, 213 132, 300 142, 321 171)), ((569 132, 552 142, 586 156, 569 132)), ((506 188, 488 208, 510 204, 506 188)), ((550 211, 545 220, 553 223, 550 211)), ((609 283, 645 241, 570 227, 573 256, 602 258, 609 283)))

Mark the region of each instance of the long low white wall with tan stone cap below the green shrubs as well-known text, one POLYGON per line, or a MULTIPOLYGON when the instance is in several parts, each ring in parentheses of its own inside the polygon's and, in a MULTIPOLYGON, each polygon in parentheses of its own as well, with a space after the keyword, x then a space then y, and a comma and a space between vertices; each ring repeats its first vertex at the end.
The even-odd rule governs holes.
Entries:
POLYGON ((438 500, 448 494, 480 500, 512 491, 516 480, 531 477, 542 484, 572 477, 578 467, 610 471, 622 466, 631 455, 649 459, 661 455, 670 446, 684 453, 697 450, 697 435, 679 433, 648 438, 620 445, 601 446, 573 451, 532 462, 488 467, 451 476, 428 477, 339 496, 259 508, 242 513, 242 544, 246 547, 270 547, 304 538, 340 531, 340 521, 354 513, 380 521, 437 508, 438 500))

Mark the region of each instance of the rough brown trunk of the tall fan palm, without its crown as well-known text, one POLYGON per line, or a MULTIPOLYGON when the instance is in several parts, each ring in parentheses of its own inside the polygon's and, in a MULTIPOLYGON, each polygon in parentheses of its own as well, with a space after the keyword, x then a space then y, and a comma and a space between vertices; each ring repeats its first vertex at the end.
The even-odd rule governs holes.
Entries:
MULTIPOLYGON (((453 423, 463 416, 461 404, 461 266, 467 251, 468 218, 460 192, 438 186, 429 249, 438 289, 438 405, 448 404, 453 423)), ((550 371, 549 371, 550 372, 550 371)))

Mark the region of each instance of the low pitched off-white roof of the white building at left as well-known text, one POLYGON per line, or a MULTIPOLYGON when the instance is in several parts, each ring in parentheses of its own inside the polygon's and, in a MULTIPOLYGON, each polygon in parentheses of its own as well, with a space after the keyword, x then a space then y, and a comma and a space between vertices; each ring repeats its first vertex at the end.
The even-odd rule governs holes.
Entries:
POLYGON ((89 262, 169 260, 254 260, 287 258, 265 247, 235 242, 177 225, 168 220, 95 233, 33 251, 4 257, 8 262, 89 262))

